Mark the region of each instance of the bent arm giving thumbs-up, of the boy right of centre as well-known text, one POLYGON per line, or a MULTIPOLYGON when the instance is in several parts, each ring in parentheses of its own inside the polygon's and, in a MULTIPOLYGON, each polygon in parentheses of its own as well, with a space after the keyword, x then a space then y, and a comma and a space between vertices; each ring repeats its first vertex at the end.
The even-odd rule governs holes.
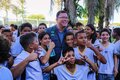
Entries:
POLYGON ((89 47, 95 52, 96 57, 100 62, 102 62, 103 64, 107 63, 105 57, 102 54, 100 54, 100 52, 96 48, 94 48, 90 42, 87 42, 87 47, 89 47))

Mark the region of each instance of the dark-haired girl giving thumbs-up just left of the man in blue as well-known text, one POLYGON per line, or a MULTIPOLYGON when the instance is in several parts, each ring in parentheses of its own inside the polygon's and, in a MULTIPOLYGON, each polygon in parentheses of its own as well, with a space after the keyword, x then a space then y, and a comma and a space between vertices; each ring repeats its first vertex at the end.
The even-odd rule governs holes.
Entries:
MULTIPOLYGON (((42 63, 41 68, 44 69, 49 66, 49 58, 55 55, 53 51, 55 44, 50 40, 50 35, 46 32, 41 32, 38 39, 41 46, 39 55, 40 62, 42 63)), ((50 80, 50 73, 43 72, 43 80, 50 80)))

